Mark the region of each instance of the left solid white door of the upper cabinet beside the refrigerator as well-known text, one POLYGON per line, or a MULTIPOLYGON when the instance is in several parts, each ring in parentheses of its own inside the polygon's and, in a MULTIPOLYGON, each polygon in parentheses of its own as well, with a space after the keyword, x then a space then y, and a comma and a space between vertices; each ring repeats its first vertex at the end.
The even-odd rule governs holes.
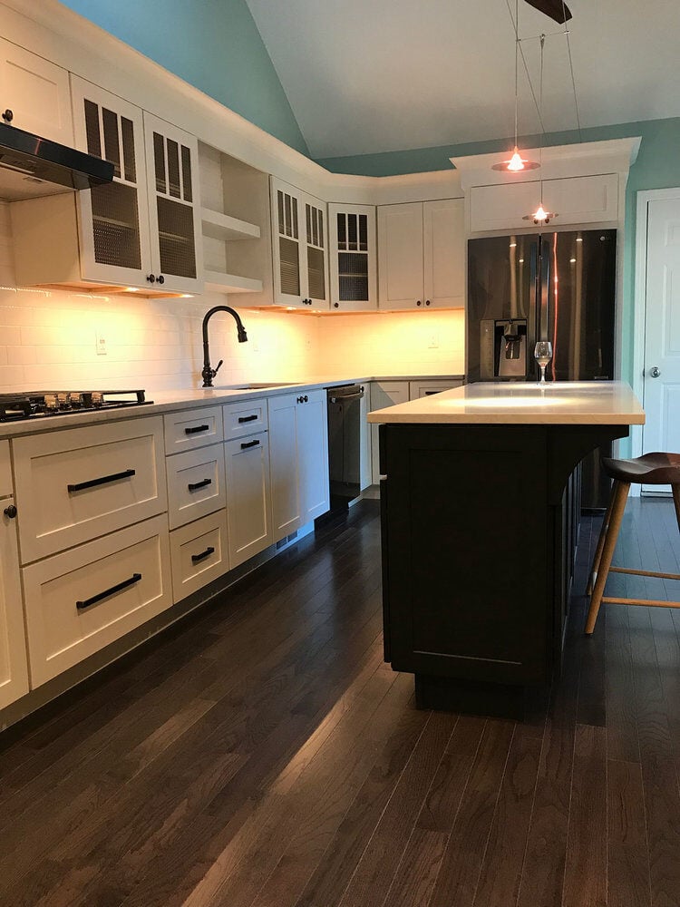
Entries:
POLYGON ((423 308, 423 202, 378 208, 378 306, 423 308))

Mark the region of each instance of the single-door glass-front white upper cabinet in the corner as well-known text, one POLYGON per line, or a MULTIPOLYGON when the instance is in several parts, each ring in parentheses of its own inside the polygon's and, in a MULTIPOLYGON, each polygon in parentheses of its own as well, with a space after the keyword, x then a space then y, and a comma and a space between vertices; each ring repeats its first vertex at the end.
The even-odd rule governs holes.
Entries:
POLYGON ((378 307, 375 208, 328 205, 331 311, 378 307))

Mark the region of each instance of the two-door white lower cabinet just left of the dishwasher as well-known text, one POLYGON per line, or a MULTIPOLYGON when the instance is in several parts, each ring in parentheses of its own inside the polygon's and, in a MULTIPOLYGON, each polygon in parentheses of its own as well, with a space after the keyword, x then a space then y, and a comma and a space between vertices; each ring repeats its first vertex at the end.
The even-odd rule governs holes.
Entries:
POLYGON ((269 398, 273 541, 328 510, 325 390, 269 398))

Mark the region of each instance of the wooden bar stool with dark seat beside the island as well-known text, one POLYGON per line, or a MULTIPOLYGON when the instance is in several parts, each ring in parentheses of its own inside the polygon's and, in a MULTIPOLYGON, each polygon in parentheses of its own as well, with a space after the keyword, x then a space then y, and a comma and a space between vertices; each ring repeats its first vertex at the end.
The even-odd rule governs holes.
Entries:
POLYGON ((665 580, 680 580, 678 573, 658 573, 656 571, 630 570, 626 567, 612 567, 614 549, 617 547, 618 531, 621 528, 628 491, 632 483, 646 485, 670 485, 675 502, 675 516, 680 530, 680 453, 645 453, 633 460, 613 460, 602 458, 602 466, 612 479, 611 497, 602 529, 597 540, 597 550, 590 569, 588 589, 590 610, 586 621, 586 633, 595 629, 597 612, 603 601, 616 601, 625 605, 654 605, 659 608, 680 608, 680 601, 649 599, 617 599, 603 595, 609 571, 617 573, 635 573, 637 576, 658 576, 665 580), (592 593, 592 594, 591 594, 592 593))

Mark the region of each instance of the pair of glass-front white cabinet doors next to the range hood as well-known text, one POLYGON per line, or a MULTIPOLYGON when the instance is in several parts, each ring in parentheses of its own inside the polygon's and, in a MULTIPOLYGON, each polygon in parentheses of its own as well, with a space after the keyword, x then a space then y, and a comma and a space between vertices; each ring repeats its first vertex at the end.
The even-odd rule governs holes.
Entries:
POLYGON ((115 168, 111 184, 78 196, 83 278, 199 292, 198 142, 83 79, 72 85, 77 146, 115 168))

